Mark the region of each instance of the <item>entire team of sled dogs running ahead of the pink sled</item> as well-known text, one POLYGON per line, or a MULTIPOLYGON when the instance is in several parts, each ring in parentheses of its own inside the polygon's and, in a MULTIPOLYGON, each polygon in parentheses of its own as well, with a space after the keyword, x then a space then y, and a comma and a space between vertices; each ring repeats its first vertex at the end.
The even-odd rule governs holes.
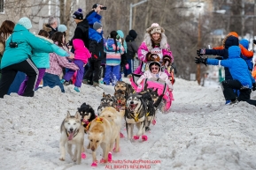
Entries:
POLYGON ((145 131, 150 130, 151 123, 156 123, 156 110, 163 95, 159 95, 157 90, 147 86, 144 91, 136 93, 131 85, 123 81, 118 81, 114 90, 113 96, 103 92, 97 115, 86 103, 78 108, 75 115, 70 115, 67 111, 60 127, 60 160, 66 159, 67 150, 71 159, 81 164, 81 159, 86 157, 83 144, 84 134, 87 134, 89 139, 87 149, 92 151, 93 157, 91 166, 97 166, 96 150, 99 146, 103 150, 103 158, 100 162, 112 161, 112 152, 120 152, 120 137, 124 137, 120 133, 123 119, 130 141, 140 137, 143 141, 148 139, 145 131), (136 135, 133 135, 134 125, 137 128, 136 135), (75 145, 74 154, 72 144, 75 145))

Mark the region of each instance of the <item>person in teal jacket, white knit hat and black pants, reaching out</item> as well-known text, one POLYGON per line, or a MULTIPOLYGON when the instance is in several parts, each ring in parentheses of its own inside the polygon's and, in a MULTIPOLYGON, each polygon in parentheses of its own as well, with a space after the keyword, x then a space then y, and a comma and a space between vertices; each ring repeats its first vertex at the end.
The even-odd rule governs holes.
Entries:
POLYGON ((38 69, 29 58, 33 49, 40 49, 45 53, 54 52, 51 43, 45 43, 33 33, 29 18, 20 18, 14 27, 12 35, 6 41, 6 47, 1 62, 2 78, 0 80, 0 98, 4 98, 18 71, 26 73, 27 87, 23 96, 33 97, 37 81, 38 69))

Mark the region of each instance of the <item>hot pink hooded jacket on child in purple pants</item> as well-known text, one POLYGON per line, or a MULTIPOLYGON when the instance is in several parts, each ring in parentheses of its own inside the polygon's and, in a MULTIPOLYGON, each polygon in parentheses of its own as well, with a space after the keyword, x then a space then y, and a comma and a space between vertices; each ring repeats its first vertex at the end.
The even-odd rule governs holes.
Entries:
POLYGON ((74 59, 81 60, 83 63, 88 63, 88 59, 90 58, 90 53, 88 48, 86 48, 83 44, 83 41, 80 39, 74 39, 74 59))

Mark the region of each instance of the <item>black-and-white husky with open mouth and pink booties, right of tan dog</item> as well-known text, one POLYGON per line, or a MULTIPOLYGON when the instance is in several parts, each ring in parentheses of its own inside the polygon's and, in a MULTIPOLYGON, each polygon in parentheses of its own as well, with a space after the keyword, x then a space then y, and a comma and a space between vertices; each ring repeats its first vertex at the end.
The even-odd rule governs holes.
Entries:
POLYGON ((136 140, 142 136, 143 141, 147 140, 145 134, 145 119, 147 113, 147 106, 142 99, 142 95, 137 93, 132 93, 128 95, 127 98, 127 108, 125 110, 125 121, 126 129, 128 133, 128 139, 131 140, 132 137, 136 140), (134 125, 138 129, 136 136, 133 136, 134 125))

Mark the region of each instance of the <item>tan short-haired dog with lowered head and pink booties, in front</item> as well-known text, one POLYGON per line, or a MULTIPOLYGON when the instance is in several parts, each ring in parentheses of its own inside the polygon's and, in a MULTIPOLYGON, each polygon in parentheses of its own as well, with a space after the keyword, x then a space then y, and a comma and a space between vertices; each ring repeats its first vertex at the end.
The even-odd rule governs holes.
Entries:
POLYGON ((103 150, 103 162, 112 160, 111 150, 116 139, 119 137, 119 129, 111 119, 97 117, 90 123, 88 130, 89 145, 88 149, 92 151, 93 163, 91 166, 97 166, 96 150, 100 145, 103 150))

